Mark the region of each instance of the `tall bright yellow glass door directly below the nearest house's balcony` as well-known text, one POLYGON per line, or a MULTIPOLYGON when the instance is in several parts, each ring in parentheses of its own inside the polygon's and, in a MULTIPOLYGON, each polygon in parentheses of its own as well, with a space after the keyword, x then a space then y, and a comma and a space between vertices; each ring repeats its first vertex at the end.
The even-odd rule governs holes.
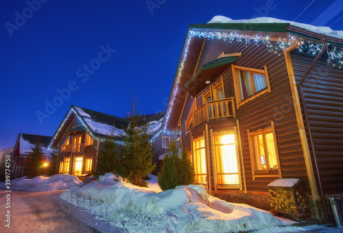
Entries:
POLYGON ((215 135, 217 184, 239 185, 235 134, 215 135))

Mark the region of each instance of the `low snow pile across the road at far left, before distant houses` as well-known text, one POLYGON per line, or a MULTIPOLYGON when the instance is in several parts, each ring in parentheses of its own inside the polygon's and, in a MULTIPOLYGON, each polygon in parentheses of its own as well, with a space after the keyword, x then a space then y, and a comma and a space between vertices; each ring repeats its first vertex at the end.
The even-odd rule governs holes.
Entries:
POLYGON ((56 191, 59 189, 82 186, 82 182, 73 175, 59 174, 46 177, 43 175, 27 179, 27 176, 11 181, 11 188, 31 192, 56 191))

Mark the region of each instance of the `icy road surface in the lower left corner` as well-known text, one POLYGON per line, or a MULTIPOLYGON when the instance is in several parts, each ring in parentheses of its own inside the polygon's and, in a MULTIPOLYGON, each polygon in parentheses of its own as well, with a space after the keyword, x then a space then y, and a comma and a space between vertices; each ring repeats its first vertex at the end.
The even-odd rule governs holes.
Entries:
POLYGON ((11 228, 5 226, 6 191, 0 189, 0 232, 125 232, 97 221, 60 199, 62 191, 30 193, 13 190, 11 193, 11 228))

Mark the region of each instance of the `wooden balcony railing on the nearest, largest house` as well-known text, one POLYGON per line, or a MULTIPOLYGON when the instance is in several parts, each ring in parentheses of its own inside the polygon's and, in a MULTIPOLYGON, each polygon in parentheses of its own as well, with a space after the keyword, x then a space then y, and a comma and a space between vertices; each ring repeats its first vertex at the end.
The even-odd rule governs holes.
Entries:
POLYGON ((211 121, 222 118, 235 118, 235 97, 220 99, 205 103, 201 108, 193 113, 193 127, 200 125, 204 121, 211 121))

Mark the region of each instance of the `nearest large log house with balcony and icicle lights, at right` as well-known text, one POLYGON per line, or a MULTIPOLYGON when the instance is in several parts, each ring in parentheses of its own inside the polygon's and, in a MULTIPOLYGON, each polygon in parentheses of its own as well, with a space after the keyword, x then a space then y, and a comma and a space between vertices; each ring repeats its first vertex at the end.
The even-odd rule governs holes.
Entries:
POLYGON ((181 131, 197 183, 265 209, 279 178, 313 204, 342 196, 342 39, 269 18, 189 25, 163 129, 181 131))

